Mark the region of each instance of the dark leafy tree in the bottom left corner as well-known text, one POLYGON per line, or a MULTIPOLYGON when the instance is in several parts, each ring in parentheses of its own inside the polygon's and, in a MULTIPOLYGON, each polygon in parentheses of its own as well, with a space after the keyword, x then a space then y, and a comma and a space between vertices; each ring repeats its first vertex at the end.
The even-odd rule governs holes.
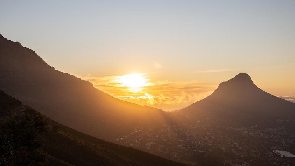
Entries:
POLYGON ((43 132, 47 122, 40 115, 25 114, 22 120, 11 118, 0 124, 0 166, 46 164, 43 132))

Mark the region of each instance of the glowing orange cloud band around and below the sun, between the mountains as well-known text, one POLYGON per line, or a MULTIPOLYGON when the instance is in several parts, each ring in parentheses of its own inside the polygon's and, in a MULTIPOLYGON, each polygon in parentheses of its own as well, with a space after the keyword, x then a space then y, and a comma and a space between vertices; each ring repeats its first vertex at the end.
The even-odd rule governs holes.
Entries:
MULTIPOLYGON (((144 78, 147 79, 146 77, 144 78)), ((119 99, 161 108, 165 111, 188 106, 209 96, 218 87, 217 85, 204 85, 199 81, 157 81, 149 82, 145 86, 137 87, 137 91, 133 91, 130 87, 122 86, 122 83, 117 81, 122 76, 94 77, 88 75, 80 78, 90 81, 97 89, 119 99)))

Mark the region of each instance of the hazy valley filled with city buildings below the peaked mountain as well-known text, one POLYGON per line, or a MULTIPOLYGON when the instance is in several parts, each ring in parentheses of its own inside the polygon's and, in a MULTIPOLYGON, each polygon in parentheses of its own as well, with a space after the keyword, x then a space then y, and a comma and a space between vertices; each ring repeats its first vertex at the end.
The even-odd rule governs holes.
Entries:
POLYGON ((287 149, 295 153, 295 119, 278 121, 273 128, 244 127, 235 122, 210 119, 173 126, 145 126, 114 141, 171 160, 200 165, 283 165, 293 158, 281 158, 273 152, 287 149), (200 162, 201 161, 201 162, 200 162), (275 164, 274 164, 275 165, 275 164))

